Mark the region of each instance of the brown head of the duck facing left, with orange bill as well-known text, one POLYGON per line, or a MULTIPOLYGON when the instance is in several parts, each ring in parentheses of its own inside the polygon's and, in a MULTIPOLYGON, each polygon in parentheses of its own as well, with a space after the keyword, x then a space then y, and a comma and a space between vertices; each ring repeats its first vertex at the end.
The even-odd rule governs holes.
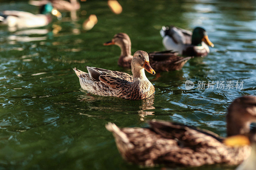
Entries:
POLYGON ((122 56, 131 55, 132 43, 130 37, 126 33, 117 33, 111 41, 108 41, 103 45, 117 45, 121 48, 122 56))

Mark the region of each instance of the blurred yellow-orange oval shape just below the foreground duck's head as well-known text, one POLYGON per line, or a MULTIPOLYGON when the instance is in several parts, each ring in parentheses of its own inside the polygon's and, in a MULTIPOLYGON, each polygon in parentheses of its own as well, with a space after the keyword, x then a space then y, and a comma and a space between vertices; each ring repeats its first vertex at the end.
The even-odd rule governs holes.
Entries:
POLYGON ((247 136, 244 135, 236 135, 227 137, 224 141, 224 144, 231 147, 239 147, 239 146, 246 146, 250 145, 250 140, 247 136))

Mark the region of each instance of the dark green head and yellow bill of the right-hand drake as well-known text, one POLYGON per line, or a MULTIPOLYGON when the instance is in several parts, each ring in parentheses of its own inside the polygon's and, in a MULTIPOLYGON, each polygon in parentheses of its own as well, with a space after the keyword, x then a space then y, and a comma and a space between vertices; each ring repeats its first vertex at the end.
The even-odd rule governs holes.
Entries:
POLYGON ((202 27, 196 27, 192 33, 192 45, 202 46, 202 42, 210 47, 214 47, 213 43, 209 40, 206 31, 202 27))

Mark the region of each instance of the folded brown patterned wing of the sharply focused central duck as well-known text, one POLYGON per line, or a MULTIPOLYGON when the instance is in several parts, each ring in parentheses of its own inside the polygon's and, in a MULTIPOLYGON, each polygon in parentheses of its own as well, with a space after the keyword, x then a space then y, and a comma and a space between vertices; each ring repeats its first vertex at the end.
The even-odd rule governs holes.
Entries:
POLYGON ((95 82, 102 82, 113 89, 118 89, 132 82, 133 77, 125 72, 112 71, 96 67, 86 67, 90 78, 95 82))

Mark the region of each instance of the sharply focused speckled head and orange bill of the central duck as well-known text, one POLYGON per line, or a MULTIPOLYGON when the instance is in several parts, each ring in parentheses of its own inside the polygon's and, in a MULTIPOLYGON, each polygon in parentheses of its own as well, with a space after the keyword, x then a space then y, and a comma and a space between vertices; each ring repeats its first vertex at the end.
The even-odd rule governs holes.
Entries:
POLYGON ((145 71, 148 71, 150 74, 156 74, 156 72, 151 68, 149 64, 149 59, 148 59, 148 53, 145 51, 136 51, 132 57, 132 74, 133 77, 141 77, 145 76, 145 71), (139 74, 139 75, 137 75, 139 74))

